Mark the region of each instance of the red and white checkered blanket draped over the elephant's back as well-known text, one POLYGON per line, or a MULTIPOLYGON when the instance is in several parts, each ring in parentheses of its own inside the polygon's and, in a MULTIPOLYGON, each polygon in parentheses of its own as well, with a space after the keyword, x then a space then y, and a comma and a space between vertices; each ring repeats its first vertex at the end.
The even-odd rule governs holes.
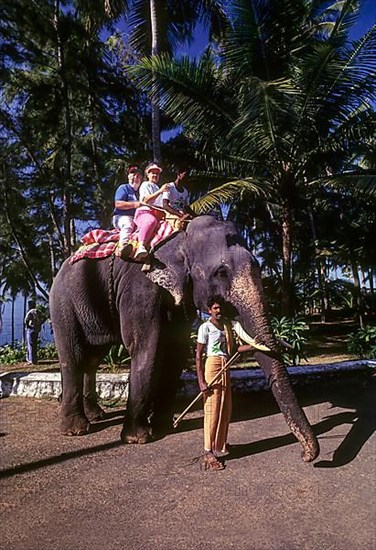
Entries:
MULTIPOLYGON (((158 224, 157 231, 150 242, 150 249, 169 237, 173 233, 171 225, 166 221, 161 221, 158 224)), ((119 234, 118 229, 93 229, 86 233, 81 239, 82 245, 69 259, 69 263, 73 264, 82 258, 101 259, 116 254, 119 250, 119 234)), ((138 231, 132 233, 129 243, 132 244, 133 250, 129 258, 133 258, 138 248, 138 231)))

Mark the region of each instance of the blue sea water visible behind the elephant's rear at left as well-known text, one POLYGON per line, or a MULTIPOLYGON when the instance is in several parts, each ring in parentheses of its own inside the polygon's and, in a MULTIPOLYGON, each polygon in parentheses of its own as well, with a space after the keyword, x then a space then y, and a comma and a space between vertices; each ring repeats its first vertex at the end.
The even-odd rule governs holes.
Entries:
MULTIPOLYGON (((2 329, 0 327, 0 346, 12 343, 12 303, 5 302, 0 305, 2 310, 2 329)), ((14 304, 14 340, 24 341, 24 298, 17 296, 14 304)), ((41 345, 53 342, 53 334, 49 319, 43 323, 40 331, 41 345)))

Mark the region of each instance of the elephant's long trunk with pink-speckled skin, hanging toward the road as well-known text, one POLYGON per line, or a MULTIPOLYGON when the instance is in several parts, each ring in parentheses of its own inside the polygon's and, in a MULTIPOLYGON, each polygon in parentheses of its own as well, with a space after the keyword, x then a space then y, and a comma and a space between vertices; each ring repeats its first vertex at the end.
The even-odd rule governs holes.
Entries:
MULTIPOLYGON (((267 320, 261 275, 257 265, 244 266, 235 277, 230 290, 230 300, 239 312, 244 329, 258 343, 267 345, 275 352, 278 346, 267 320)), ((303 447, 302 460, 314 460, 319 454, 319 444, 297 401, 286 367, 279 359, 261 351, 255 353, 255 359, 265 373, 287 425, 303 447)))

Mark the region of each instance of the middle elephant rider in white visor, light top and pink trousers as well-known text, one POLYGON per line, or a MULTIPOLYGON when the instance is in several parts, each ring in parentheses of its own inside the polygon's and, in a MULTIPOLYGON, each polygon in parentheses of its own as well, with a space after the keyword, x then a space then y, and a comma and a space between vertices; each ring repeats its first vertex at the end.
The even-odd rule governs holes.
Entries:
POLYGON ((140 207, 137 208, 134 222, 138 227, 139 247, 134 257, 135 260, 146 260, 149 255, 148 246, 153 238, 160 220, 165 218, 162 195, 167 190, 168 184, 159 187, 159 177, 162 168, 155 162, 151 162, 145 168, 147 180, 141 184, 140 207))

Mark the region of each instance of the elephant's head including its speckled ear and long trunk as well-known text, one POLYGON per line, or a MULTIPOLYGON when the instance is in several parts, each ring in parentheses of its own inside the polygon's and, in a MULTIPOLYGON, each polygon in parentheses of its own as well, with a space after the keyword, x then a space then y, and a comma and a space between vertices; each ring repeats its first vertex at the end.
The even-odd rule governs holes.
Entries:
POLYGON ((208 297, 220 294, 234 306, 245 330, 273 350, 270 354, 256 351, 255 358, 288 426, 303 447, 303 461, 314 460, 319 445, 279 358, 258 263, 234 225, 200 216, 190 222, 185 233, 163 245, 155 255, 159 263, 148 276, 166 288, 176 304, 192 299, 197 309, 205 310, 208 297))

